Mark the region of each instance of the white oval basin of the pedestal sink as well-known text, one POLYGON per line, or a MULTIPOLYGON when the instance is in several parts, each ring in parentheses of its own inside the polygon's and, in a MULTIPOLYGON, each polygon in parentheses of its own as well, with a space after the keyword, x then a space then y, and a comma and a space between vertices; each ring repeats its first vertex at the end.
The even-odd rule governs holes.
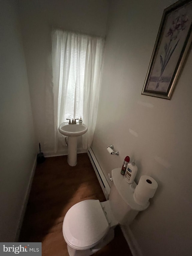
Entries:
POLYGON ((67 137, 76 137, 85 134, 87 131, 87 126, 82 124, 69 125, 67 123, 62 123, 59 125, 59 132, 67 137))

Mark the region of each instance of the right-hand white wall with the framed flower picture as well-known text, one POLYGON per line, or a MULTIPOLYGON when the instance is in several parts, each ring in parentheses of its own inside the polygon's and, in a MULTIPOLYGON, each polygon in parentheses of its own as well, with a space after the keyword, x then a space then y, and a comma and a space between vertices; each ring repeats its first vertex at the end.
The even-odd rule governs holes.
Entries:
MULTIPOLYGON (((167 0, 112 1, 92 149, 107 173, 126 155, 158 190, 131 230, 145 256, 192 251, 192 52, 171 100, 141 95, 167 0), (120 155, 109 155, 113 144, 120 155)), ((120 209, 119 209, 120 210, 120 209)))

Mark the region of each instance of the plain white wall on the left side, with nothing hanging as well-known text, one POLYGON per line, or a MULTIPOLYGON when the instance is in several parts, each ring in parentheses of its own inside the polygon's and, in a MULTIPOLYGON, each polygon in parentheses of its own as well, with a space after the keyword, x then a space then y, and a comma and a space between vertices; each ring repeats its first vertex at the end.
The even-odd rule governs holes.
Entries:
POLYGON ((0 242, 11 242, 16 236, 37 153, 14 0, 0 1, 0 31, 0 242))

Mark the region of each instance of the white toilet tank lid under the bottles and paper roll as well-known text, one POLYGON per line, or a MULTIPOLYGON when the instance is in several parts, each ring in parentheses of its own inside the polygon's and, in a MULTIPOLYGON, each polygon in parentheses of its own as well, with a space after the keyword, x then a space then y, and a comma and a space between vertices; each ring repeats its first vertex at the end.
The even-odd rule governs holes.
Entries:
MULTIPOLYGON (((135 211, 143 211, 147 209, 147 207, 149 206, 149 203, 146 206, 142 206, 135 202, 133 197, 134 189, 131 188, 131 184, 126 182, 125 177, 121 175, 121 168, 113 169, 112 177, 113 177, 113 183, 118 193, 125 201, 125 203, 127 203, 135 211)), ((137 184, 134 182, 133 186, 136 187, 137 184)))

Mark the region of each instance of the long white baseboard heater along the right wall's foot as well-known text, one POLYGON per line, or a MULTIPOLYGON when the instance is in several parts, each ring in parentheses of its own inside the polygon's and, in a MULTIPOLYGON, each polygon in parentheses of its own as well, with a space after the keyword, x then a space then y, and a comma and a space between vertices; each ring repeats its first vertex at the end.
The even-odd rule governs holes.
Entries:
POLYGON ((93 169, 95 170, 95 173, 97 175, 98 181, 101 185, 101 188, 104 192, 104 195, 106 197, 106 199, 108 200, 109 198, 109 193, 110 193, 110 186, 107 182, 107 179, 105 178, 105 175, 97 161, 97 158, 95 157, 93 151, 91 148, 89 148, 88 150, 88 156, 90 158, 91 164, 93 166, 93 169))

